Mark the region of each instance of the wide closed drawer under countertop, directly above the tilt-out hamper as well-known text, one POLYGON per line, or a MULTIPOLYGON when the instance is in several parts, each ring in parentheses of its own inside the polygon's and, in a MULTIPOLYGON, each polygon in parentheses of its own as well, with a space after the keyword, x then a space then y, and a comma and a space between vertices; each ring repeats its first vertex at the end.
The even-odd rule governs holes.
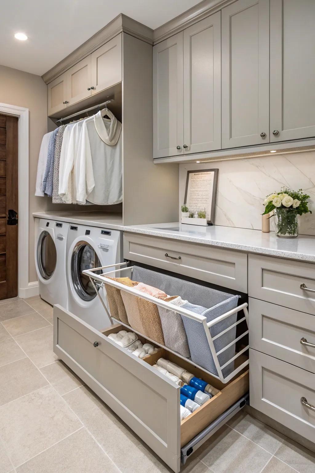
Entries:
POLYGON ((124 258, 247 292, 244 253, 124 232, 124 258))

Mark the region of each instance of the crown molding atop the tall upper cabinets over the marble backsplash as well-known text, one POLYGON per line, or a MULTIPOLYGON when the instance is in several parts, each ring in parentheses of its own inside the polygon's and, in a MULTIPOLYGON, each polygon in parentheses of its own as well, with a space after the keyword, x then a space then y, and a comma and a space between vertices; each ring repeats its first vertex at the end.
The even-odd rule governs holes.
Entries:
POLYGON ((180 31, 209 17, 213 13, 234 3, 236 0, 203 0, 181 15, 159 26, 153 31, 153 44, 161 43, 164 39, 176 35, 180 31))

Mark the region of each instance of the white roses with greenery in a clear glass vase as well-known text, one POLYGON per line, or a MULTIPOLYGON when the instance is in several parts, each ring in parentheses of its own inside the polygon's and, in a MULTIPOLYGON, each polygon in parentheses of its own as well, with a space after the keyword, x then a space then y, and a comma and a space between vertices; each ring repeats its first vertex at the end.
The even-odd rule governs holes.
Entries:
POLYGON ((309 197, 302 189, 291 191, 287 187, 282 187, 280 192, 267 195, 263 215, 273 212, 276 216, 277 236, 281 238, 298 236, 298 215, 312 213, 307 206, 309 197))

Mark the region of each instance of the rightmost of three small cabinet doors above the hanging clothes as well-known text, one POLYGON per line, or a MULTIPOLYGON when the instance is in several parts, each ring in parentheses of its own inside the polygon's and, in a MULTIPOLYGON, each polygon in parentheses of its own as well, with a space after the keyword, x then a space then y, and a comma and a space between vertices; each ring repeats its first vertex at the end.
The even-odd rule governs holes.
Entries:
POLYGON ((122 81, 122 33, 91 54, 92 95, 122 81))

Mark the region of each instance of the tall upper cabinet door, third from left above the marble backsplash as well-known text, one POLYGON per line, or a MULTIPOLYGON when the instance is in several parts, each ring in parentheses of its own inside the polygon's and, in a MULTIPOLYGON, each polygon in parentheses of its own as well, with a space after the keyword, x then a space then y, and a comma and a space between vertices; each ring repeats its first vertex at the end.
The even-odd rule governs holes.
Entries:
POLYGON ((221 10, 222 149, 269 142, 269 0, 221 10))

